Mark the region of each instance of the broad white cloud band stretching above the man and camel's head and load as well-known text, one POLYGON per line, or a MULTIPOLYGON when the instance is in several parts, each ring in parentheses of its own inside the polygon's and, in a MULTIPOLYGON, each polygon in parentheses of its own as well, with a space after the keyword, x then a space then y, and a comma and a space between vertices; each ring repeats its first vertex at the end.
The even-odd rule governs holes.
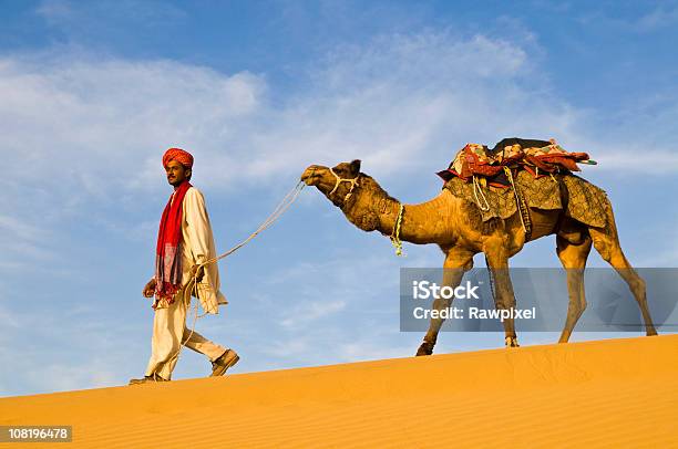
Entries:
POLYGON ((202 185, 227 191, 289 184, 308 164, 351 158, 402 179, 445 166, 468 140, 513 135, 600 147, 590 112, 551 94, 507 40, 382 36, 337 49, 309 74, 307 88, 274 105, 266 77, 247 72, 68 52, 6 56, 0 132, 16 188, 50 190, 65 210, 115 201, 121 190, 160 188, 158 158, 172 145, 195 153, 202 185))

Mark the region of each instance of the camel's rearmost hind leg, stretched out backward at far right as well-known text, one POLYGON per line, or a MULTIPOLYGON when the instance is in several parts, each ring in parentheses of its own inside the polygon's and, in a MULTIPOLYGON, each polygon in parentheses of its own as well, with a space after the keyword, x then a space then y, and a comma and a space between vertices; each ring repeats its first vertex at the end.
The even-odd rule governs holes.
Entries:
POLYGON ((634 270, 631 264, 624 255, 624 251, 622 251, 622 246, 619 244, 619 238, 617 234, 617 226, 615 223, 615 216, 609 202, 606 205, 606 228, 588 228, 588 232, 593 239, 593 244, 596 251, 600 253, 600 257, 615 270, 617 270, 617 273, 619 273, 619 275, 628 284, 628 288, 640 307, 647 335, 657 335, 657 331, 655 330, 655 325, 653 324, 653 319, 647 306, 645 281, 638 275, 638 273, 636 273, 636 270, 634 270))

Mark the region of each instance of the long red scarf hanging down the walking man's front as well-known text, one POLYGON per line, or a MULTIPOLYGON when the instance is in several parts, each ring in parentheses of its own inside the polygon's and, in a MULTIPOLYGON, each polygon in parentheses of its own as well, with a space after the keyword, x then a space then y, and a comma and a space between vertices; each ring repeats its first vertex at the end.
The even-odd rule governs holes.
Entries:
POLYGON ((174 294, 182 286, 182 205, 186 191, 191 188, 187 180, 182 182, 170 197, 157 231, 157 247, 155 250, 155 302, 166 300, 167 304, 174 301, 174 294))

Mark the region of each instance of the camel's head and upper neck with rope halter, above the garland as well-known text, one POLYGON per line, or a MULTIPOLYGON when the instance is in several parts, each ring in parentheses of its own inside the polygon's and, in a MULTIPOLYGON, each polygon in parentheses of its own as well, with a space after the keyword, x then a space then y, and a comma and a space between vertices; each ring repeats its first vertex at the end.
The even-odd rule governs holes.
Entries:
POLYGON ((368 232, 377 229, 384 201, 392 199, 371 177, 360 173, 358 159, 332 168, 311 165, 304 170, 301 180, 316 186, 350 222, 368 232))

